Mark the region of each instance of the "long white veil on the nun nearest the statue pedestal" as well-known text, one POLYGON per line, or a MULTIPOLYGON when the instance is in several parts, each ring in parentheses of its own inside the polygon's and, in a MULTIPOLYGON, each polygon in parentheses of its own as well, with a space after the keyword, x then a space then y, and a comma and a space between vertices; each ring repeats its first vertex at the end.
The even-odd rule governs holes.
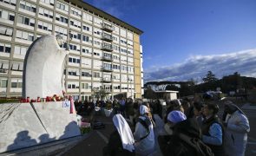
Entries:
POLYGON ((121 116, 121 114, 115 114, 113 122, 120 135, 122 147, 133 152, 135 150, 135 139, 127 121, 121 116))

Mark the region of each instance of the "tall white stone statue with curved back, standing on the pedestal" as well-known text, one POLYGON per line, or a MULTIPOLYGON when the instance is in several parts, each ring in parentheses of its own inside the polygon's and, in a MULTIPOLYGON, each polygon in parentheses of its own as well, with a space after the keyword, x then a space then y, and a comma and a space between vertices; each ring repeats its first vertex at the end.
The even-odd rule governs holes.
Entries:
POLYGON ((42 36, 30 45, 24 60, 23 98, 62 95, 63 69, 68 51, 60 48, 62 36, 42 36))

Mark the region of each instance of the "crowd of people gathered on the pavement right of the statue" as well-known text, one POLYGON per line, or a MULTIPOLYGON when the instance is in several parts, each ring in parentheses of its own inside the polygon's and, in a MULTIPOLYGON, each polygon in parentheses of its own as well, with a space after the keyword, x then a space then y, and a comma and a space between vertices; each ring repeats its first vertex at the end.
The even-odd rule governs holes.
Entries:
POLYGON ((232 101, 226 101, 224 113, 214 101, 91 101, 76 104, 78 113, 90 114, 94 107, 112 107, 115 131, 110 135, 103 155, 149 155, 155 141, 164 156, 215 155, 243 156, 247 133, 246 114, 232 101), (154 115, 165 122, 166 134, 156 135, 154 115), (220 114, 219 114, 220 115, 220 114))

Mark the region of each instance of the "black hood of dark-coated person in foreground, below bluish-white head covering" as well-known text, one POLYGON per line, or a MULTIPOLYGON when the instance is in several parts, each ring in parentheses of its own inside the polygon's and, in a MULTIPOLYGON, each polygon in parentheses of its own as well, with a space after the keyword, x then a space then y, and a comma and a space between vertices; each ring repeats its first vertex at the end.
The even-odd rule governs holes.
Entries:
POLYGON ((174 133, 184 133, 189 137, 200 138, 200 126, 194 118, 182 120, 174 126, 174 133))

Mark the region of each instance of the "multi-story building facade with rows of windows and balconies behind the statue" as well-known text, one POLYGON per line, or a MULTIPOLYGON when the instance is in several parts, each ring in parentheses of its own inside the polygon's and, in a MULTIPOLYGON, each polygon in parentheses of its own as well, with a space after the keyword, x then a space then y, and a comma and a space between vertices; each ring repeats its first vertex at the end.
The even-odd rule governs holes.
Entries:
POLYGON ((0 0, 1 97, 22 95, 26 52, 47 34, 71 38, 64 74, 75 99, 100 88, 141 98, 142 31, 79 0, 0 0))

